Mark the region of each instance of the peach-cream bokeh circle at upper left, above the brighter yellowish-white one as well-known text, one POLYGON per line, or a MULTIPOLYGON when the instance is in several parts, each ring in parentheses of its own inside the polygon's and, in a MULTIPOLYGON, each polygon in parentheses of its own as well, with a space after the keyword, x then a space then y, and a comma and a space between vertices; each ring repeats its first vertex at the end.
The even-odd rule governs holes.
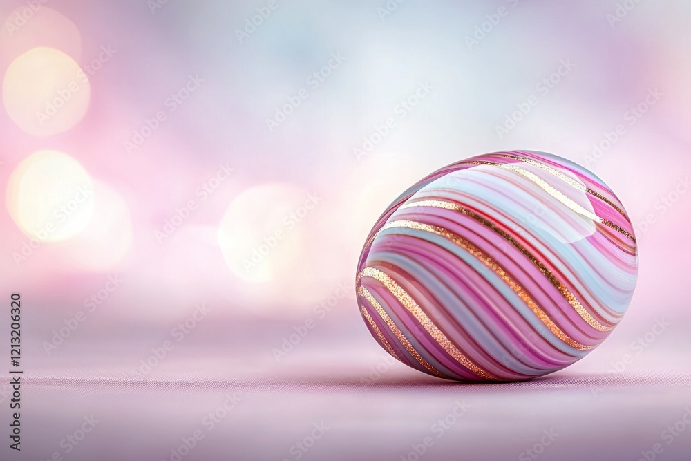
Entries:
POLYGON ((17 57, 3 81, 3 104, 23 131, 38 137, 62 133, 88 110, 91 86, 74 59, 54 48, 17 57))

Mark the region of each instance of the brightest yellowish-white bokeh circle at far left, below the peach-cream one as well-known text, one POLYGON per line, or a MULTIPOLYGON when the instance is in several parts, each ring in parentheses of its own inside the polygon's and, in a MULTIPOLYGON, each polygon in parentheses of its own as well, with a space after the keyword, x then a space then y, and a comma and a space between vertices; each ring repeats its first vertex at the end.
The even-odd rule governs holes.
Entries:
POLYGON ((38 151, 8 182, 6 205, 17 226, 39 241, 61 241, 82 232, 93 212, 93 182, 66 153, 38 151))

